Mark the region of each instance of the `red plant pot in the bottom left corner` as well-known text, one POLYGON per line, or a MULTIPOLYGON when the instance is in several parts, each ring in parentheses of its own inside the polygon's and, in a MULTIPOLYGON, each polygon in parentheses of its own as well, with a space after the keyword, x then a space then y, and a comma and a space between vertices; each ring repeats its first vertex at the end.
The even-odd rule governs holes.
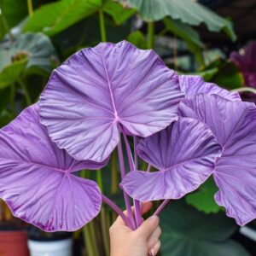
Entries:
POLYGON ((25 231, 0 231, 0 255, 29 256, 25 231))

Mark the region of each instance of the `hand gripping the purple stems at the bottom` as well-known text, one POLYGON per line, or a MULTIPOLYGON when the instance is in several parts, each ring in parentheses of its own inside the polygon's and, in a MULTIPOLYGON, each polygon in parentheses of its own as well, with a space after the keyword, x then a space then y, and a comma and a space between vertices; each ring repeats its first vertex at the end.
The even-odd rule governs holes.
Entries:
MULTIPOLYGON (((142 212, 148 212, 151 207, 152 203, 143 203, 142 212)), ((157 216, 145 220, 137 230, 128 228, 118 217, 109 233, 111 256, 155 256, 160 249, 161 230, 157 216)))

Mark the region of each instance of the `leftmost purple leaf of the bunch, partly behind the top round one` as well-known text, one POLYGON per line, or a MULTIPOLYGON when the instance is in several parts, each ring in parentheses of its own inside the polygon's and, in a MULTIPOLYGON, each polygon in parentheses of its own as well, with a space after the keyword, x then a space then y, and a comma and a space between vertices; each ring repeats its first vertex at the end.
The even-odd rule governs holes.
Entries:
POLYGON ((104 163, 77 161, 52 143, 38 105, 0 131, 0 197, 15 217, 52 232, 78 230, 99 213, 100 189, 72 172, 104 163))

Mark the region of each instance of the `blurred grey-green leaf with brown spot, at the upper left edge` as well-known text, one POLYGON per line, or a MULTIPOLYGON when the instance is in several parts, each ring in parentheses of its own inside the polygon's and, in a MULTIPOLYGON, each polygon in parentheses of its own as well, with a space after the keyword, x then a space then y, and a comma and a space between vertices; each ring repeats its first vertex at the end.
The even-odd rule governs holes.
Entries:
POLYGON ((23 55, 27 58, 26 72, 38 67, 49 73, 53 69, 53 62, 58 60, 53 44, 44 34, 20 34, 14 43, 0 44, 0 72, 6 67, 17 65, 23 55))

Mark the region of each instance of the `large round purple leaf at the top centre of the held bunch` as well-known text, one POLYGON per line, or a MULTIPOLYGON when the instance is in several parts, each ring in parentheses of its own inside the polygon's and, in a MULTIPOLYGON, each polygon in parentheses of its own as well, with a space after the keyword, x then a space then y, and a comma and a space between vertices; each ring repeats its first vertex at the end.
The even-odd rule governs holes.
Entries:
POLYGON ((82 49, 51 75, 40 98, 49 137, 78 160, 105 160, 119 125, 148 137, 177 119, 177 73, 128 42, 82 49))

